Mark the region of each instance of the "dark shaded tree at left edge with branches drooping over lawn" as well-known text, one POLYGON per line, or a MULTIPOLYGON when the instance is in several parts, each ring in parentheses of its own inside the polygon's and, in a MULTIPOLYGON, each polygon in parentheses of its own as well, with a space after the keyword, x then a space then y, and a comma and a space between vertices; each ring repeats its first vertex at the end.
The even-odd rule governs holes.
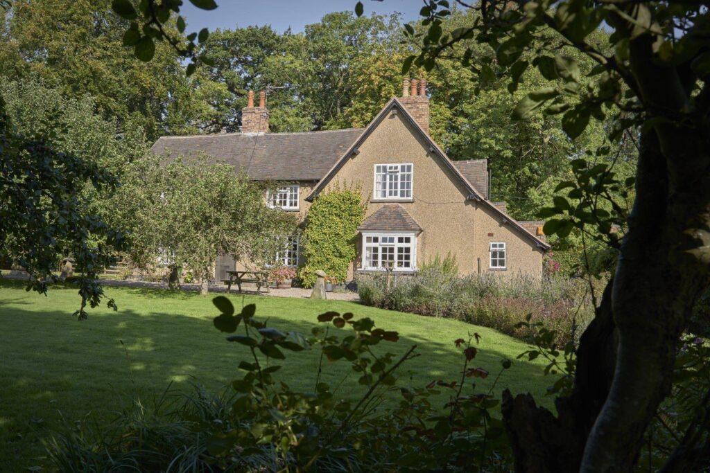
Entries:
MULTIPOLYGON (((40 294, 58 279, 60 255, 70 255, 82 272, 75 316, 86 318, 87 304, 96 307, 103 296, 97 274, 115 262, 124 235, 89 209, 82 191, 114 189, 116 178, 94 162, 54 150, 41 135, 19 133, 1 96, 0 154, 0 255, 25 269, 32 278, 28 289, 40 294)), ((116 309, 113 299, 108 305, 116 309)))

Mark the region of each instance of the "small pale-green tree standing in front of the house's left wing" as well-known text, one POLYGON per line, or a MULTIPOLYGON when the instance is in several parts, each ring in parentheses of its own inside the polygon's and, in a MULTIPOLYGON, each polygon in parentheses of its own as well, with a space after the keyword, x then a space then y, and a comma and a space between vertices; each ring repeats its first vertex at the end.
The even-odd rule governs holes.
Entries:
POLYGON ((295 219, 267 206, 266 190, 229 165, 146 157, 133 163, 113 204, 131 230, 133 262, 190 268, 207 294, 218 255, 263 267, 293 235, 295 219))

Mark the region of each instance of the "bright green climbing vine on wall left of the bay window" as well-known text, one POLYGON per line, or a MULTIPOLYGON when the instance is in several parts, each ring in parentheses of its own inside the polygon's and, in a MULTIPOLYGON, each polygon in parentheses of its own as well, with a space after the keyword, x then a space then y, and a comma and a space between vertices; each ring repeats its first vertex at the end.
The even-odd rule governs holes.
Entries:
POLYGON ((302 237, 307 263, 299 277, 305 287, 315 284, 319 269, 345 281, 348 265, 357 255, 357 228, 365 217, 365 208, 359 187, 340 189, 336 184, 315 198, 302 237))

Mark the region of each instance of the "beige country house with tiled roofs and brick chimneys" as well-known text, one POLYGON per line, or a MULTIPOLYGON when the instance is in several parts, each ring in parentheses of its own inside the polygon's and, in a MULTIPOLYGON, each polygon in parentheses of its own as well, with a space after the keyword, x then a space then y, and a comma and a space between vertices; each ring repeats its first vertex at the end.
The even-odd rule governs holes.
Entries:
MULTIPOLYGON (((462 274, 495 272, 542 276, 550 246, 540 221, 515 221, 492 202, 486 160, 453 161, 429 136, 429 99, 422 79, 404 79, 402 96, 389 101, 364 129, 269 133, 266 95, 242 109, 241 133, 170 136, 153 145, 159 155, 204 153, 244 169, 255 180, 283 183, 273 203, 305 221, 317 196, 338 183, 359 184, 366 218, 349 277, 393 266, 415 272, 422 262, 451 252, 462 274)), ((299 265, 297 238, 279 255, 299 265)), ((221 257, 216 277, 233 269, 221 257)))

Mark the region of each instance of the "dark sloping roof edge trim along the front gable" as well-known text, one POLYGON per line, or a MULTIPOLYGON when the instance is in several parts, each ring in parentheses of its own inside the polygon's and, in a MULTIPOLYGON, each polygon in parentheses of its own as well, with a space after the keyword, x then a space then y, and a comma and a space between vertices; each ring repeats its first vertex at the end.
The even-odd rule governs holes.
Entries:
POLYGON ((437 143, 432 140, 429 134, 422 130, 422 127, 409 113, 407 108, 405 108, 405 106, 403 106, 403 104, 396 98, 393 98, 387 102, 387 104, 382 108, 380 113, 378 113, 377 116, 373 119, 373 121, 371 121, 370 124, 362 131, 359 138, 357 138, 357 140, 355 140, 355 142, 352 143, 349 148, 347 148, 347 150, 343 153, 342 157, 340 157, 340 159, 335 162, 335 164, 329 169, 327 174, 325 174, 323 179, 318 182, 317 186, 313 189, 311 194, 307 196, 307 201, 313 201, 313 199, 315 199, 315 197, 320 193, 320 191, 325 189, 328 182, 330 182, 330 180, 335 176, 335 174, 337 174, 340 168, 343 167, 345 162, 352 155, 354 155, 354 153, 356 154, 360 145, 368 138, 369 135, 371 135, 373 130, 375 130, 379 123, 383 121, 383 119, 388 115, 388 113, 390 113, 390 111, 394 108, 398 110, 398 113, 402 113, 402 116, 405 118, 405 120, 408 121, 411 126, 413 126, 415 133, 417 133, 417 135, 419 135, 420 138, 425 141, 427 147, 429 148, 429 151, 435 156, 435 158, 437 158, 440 162, 442 162, 444 166, 451 170, 452 174, 454 174, 454 179, 457 179, 461 184, 463 184, 464 189, 466 189, 466 191, 469 193, 466 196, 466 199, 481 202, 482 205, 490 208, 493 213, 497 214, 502 221, 510 223, 516 230, 522 233, 525 238, 530 238, 531 240, 533 240, 537 247, 540 247, 543 250, 550 249, 550 245, 540 240, 540 238, 537 238, 535 235, 523 228, 520 223, 515 221, 515 218, 510 217, 506 212, 501 211, 500 208, 497 208, 495 205, 493 205, 491 201, 486 200, 486 195, 481 194, 481 192, 477 190, 473 184, 471 184, 469 179, 467 179, 464 174, 461 173, 458 167, 454 165, 454 161, 450 160, 446 153, 441 148, 439 148, 439 145, 437 145, 437 143))

